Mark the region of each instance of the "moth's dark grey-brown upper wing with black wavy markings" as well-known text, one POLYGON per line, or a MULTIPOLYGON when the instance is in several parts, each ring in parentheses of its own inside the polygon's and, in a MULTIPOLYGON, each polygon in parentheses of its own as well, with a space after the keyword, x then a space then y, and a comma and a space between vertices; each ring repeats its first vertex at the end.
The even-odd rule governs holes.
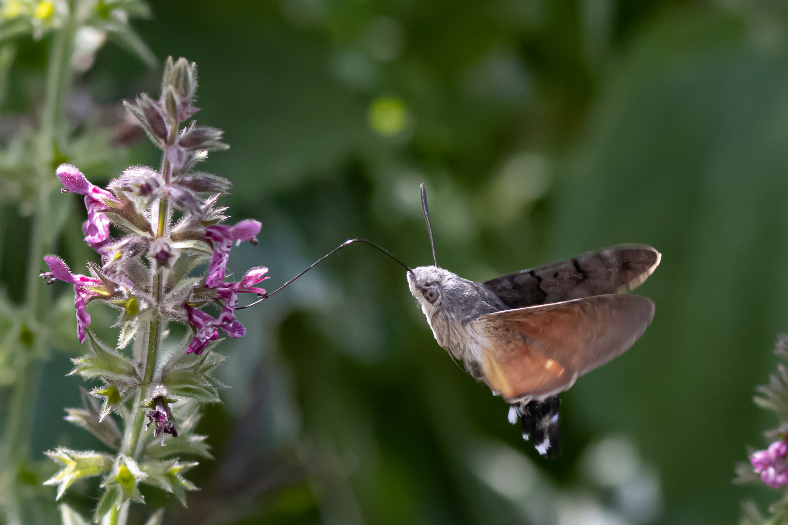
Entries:
POLYGON ((511 309, 634 290, 660 264, 644 244, 610 246, 485 283, 511 309))

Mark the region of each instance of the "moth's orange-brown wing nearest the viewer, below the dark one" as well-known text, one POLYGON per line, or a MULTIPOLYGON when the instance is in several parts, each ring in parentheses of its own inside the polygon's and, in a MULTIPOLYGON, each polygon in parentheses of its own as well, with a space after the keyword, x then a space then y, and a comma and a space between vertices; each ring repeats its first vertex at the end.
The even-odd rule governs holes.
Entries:
POLYGON ((507 402, 543 398, 626 352, 654 317, 654 303, 608 294, 504 310, 474 321, 482 369, 507 402))

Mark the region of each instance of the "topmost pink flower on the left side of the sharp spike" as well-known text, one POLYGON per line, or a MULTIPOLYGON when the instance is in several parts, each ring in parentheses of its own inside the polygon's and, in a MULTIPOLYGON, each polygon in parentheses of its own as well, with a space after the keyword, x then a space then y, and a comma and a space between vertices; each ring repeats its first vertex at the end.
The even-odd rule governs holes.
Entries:
POLYGON ((88 182, 76 166, 61 164, 55 170, 55 174, 65 188, 61 191, 72 191, 85 196, 87 220, 82 225, 82 231, 88 246, 98 251, 110 238, 110 218, 101 212, 108 208, 107 200, 117 201, 117 199, 109 191, 88 182))

